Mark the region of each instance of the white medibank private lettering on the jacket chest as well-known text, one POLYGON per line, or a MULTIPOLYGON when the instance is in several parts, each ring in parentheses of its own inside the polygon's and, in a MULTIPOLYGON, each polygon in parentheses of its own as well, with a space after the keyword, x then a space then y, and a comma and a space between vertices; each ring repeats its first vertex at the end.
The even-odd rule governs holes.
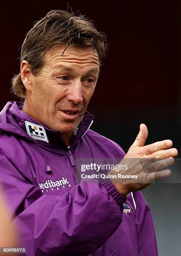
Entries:
POLYGON ((56 181, 48 179, 45 183, 39 183, 39 186, 41 188, 41 192, 43 193, 44 189, 46 189, 46 192, 49 190, 60 190, 60 188, 65 189, 66 186, 71 187, 71 184, 67 181, 67 178, 65 179, 62 177, 61 180, 56 181))

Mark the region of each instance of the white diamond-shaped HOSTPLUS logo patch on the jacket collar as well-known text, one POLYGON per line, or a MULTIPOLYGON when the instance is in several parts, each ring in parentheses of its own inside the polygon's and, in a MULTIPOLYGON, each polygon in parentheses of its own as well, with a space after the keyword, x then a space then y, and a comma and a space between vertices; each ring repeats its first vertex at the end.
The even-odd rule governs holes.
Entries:
POLYGON ((42 125, 37 125, 36 123, 30 123, 25 121, 26 131, 31 138, 39 141, 46 141, 49 143, 48 138, 46 136, 46 131, 42 125))

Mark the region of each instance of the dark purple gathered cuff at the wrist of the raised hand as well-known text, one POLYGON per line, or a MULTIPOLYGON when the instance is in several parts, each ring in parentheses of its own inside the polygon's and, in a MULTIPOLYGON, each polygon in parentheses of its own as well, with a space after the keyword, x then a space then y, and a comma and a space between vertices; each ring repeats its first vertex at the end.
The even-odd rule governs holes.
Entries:
POLYGON ((117 205, 122 205, 127 200, 127 197, 120 194, 120 192, 117 190, 115 185, 110 181, 110 179, 107 179, 106 182, 100 182, 100 184, 101 186, 105 187, 108 194, 114 198, 114 200, 117 202, 117 205))

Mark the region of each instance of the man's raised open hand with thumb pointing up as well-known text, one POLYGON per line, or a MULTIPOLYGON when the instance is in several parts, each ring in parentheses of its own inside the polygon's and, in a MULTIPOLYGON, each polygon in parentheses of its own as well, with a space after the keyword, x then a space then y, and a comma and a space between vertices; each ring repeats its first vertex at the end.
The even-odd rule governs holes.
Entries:
MULTIPOLYGON (((133 145, 128 150, 126 156, 120 164, 129 163, 126 171, 121 171, 124 175, 138 175, 138 179, 112 179, 115 187, 122 195, 141 190, 147 187, 155 179, 168 177, 170 170, 161 170, 174 163, 174 156, 177 156, 176 148, 171 148, 171 140, 158 141, 156 143, 145 145, 148 137, 148 129, 145 124, 140 125, 140 132, 133 145), (159 171, 161 170, 161 171, 159 171), (138 182, 138 183, 136 183, 138 182)), ((114 170, 110 174, 117 174, 114 170)))

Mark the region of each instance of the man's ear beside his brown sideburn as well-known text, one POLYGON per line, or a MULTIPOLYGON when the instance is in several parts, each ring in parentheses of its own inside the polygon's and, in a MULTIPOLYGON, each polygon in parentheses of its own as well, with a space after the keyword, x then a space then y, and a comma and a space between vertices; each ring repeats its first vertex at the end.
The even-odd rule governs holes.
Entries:
POLYGON ((31 68, 30 68, 30 64, 28 64, 28 61, 23 60, 21 62, 21 67, 20 67, 20 71, 21 71, 21 80, 26 88, 27 91, 31 91, 31 68))

